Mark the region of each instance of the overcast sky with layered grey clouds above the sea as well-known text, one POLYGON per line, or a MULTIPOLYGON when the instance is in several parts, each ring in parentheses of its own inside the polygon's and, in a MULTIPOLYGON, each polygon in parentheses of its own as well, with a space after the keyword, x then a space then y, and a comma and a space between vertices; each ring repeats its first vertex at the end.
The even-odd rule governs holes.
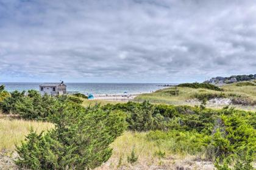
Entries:
POLYGON ((254 0, 0 0, 0 82, 256 73, 254 0))

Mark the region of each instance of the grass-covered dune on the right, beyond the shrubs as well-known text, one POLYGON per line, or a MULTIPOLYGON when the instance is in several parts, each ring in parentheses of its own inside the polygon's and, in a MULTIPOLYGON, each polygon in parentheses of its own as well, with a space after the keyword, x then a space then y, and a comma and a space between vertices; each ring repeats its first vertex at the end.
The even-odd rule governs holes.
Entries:
MULTIPOLYGON (((251 81, 248 81, 252 83, 251 81)), ((246 83, 246 82, 243 82, 246 83)), ((151 94, 138 95, 135 100, 144 101, 148 100, 152 103, 165 103, 174 105, 194 105, 194 98, 199 100, 211 100, 219 98, 229 98, 232 100, 232 106, 236 108, 243 108, 248 110, 255 110, 256 103, 256 90, 255 86, 236 86, 236 83, 226 84, 221 87, 222 91, 210 90, 210 89, 196 89, 190 87, 169 87, 165 89, 157 90, 151 94), (176 89, 177 88, 177 89, 176 89), (178 90, 178 93, 174 95, 174 92, 178 90), (170 92, 171 91, 171 92, 170 92)), ((207 104, 207 107, 218 107, 218 103, 207 104)))

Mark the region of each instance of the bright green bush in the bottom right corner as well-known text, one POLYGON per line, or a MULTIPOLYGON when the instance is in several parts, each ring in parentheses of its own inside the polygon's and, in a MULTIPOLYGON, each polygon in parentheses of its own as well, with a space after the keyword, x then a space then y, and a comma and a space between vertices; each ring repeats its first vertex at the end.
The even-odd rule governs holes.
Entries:
MULTIPOLYGON (((234 111, 234 110, 233 110, 234 111)), ((222 115, 222 127, 212 137, 217 169, 252 169, 255 129, 240 115, 222 115)))

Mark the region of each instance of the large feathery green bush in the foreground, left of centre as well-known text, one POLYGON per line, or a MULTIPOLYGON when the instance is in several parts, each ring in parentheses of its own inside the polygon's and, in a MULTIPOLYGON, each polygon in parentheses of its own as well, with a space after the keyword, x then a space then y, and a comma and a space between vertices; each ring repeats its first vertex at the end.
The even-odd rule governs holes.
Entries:
POLYGON ((16 164, 29 169, 93 169, 112 155, 109 144, 125 129, 123 112, 65 102, 55 109, 55 129, 37 135, 31 131, 21 146, 16 164))

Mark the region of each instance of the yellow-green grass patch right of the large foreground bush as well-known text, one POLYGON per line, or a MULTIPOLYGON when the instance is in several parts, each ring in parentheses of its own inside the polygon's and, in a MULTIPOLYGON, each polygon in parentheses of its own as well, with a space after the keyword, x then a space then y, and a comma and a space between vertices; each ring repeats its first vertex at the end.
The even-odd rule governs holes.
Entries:
POLYGON ((148 134, 149 132, 124 132, 111 144, 112 157, 96 169, 151 169, 149 167, 157 166, 176 169, 176 165, 184 165, 187 160, 191 163, 191 160, 204 158, 200 152, 191 155, 188 152, 191 148, 185 141, 177 142, 173 138, 148 140, 148 134), (127 156, 131 155, 133 149, 138 157, 134 165, 127 161, 127 156))

